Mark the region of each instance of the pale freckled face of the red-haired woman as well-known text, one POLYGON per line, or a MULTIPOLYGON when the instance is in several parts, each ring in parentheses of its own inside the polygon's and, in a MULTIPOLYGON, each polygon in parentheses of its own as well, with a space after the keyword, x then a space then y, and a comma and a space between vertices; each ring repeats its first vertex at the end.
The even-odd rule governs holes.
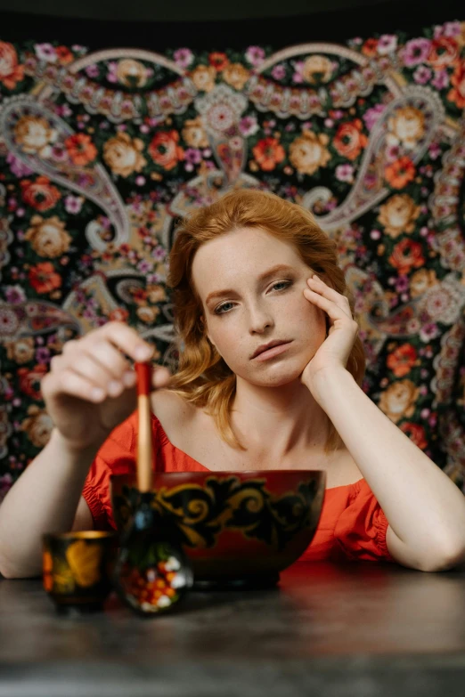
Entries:
POLYGON ((237 376, 270 387, 300 376, 326 335, 324 312, 304 296, 311 275, 290 243, 264 230, 241 228, 200 247, 192 277, 208 338, 237 376), (274 340, 289 343, 253 358, 274 340))

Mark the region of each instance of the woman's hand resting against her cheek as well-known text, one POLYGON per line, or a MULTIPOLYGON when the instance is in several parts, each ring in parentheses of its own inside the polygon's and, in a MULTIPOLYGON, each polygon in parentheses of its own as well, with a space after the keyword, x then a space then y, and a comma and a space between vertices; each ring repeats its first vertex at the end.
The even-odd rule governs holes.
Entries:
POLYGON ((317 276, 307 280, 306 299, 326 312, 330 331, 314 357, 309 361, 300 379, 312 390, 314 377, 322 369, 346 369, 347 360, 355 343, 358 324, 352 317, 347 297, 341 296, 317 276))

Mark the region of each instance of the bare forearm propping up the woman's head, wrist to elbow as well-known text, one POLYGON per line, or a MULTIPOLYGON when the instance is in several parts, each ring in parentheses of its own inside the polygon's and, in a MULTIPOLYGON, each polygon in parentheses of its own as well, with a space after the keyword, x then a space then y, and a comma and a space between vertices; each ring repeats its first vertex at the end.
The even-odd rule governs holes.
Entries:
POLYGON ((363 393, 346 369, 318 371, 312 393, 383 509, 389 522, 387 548, 396 561, 421 571, 443 571, 464 562, 461 490, 363 393))

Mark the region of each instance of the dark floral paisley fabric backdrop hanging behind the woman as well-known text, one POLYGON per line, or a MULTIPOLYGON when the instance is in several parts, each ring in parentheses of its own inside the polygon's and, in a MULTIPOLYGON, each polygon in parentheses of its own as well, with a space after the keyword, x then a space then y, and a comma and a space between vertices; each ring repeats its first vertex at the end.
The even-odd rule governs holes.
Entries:
POLYGON ((363 389, 461 489, 465 22, 242 51, 0 41, 0 499, 52 429, 69 338, 135 327, 175 369, 175 221, 272 190, 337 241, 363 389))

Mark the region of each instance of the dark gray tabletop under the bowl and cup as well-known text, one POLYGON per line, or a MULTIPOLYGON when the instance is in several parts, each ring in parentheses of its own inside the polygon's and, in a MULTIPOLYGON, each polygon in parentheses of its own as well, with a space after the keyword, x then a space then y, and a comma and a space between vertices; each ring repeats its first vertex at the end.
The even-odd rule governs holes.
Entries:
POLYGON ((273 590, 192 592, 175 614, 58 616, 0 579, 0 697, 465 695, 465 568, 297 563, 273 590))

